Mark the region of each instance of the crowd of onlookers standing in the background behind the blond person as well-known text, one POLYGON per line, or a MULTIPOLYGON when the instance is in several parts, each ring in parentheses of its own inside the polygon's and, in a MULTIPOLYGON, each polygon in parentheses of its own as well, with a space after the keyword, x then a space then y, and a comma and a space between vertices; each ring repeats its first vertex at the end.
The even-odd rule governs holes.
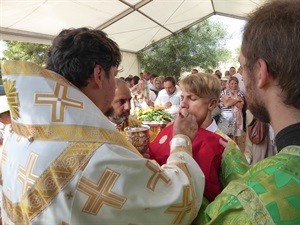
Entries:
MULTIPOLYGON (((220 87, 217 104, 214 105, 211 112, 218 130, 242 148, 250 164, 265 158, 265 156, 276 154, 273 129, 269 124, 266 126, 269 127, 268 131, 270 132, 265 134, 264 144, 253 144, 247 138, 247 127, 252 122, 253 116, 246 104, 242 68, 236 70, 234 66, 231 66, 226 72, 228 72, 227 76, 223 76, 219 69, 214 73, 212 71, 207 73, 218 79, 220 87), (247 118, 247 114, 251 120, 247 118), (261 152, 264 153, 261 154, 261 152)), ((192 69, 187 76, 194 74, 199 74, 198 69, 192 69)), ((174 77, 158 76, 148 71, 140 73, 140 76, 120 77, 127 83, 131 92, 130 117, 137 119, 140 109, 159 107, 175 118, 179 108, 182 107, 182 87, 179 83, 184 77, 180 77, 177 81, 174 77), (133 77, 137 80, 137 84, 132 83, 133 77)))

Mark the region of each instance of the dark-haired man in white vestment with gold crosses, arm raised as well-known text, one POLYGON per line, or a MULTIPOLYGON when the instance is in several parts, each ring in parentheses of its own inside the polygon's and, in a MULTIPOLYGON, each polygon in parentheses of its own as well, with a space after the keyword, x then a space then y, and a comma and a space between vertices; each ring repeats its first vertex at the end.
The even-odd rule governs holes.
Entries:
POLYGON ((160 167, 104 115, 121 62, 106 33, 63 30, 48 56, 47 69, 2 62, 14 129, 1 163, 3 223, 189 224, 204 188, 191 151, 195 117, 178 112, 171 155, 160 167))

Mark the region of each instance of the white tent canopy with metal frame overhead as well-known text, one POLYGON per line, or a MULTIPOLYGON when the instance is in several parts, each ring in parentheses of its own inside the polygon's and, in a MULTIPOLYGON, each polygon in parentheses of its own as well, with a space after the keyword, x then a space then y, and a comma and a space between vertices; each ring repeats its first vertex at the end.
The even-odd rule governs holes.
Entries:
MULTIPOLYGON (((50 44, 71 27, 101 29, 115 40, 124 73, 135 53, 212 15, 244 19, 263 0, 0 0, 0 39, 50 44), (126 52, 126 53, 124 53, 126 52), (125 57, 126 55, 126 57, 125 57), (126 63, 127 64, 127 63, 126 63)), ((133 60, 133 61, 132 61, 133 60)))

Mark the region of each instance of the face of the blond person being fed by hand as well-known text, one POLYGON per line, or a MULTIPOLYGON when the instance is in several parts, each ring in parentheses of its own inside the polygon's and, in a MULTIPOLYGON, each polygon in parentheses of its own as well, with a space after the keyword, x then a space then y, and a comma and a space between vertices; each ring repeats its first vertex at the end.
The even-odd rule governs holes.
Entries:
POLYGON ((189 113, 196 117, 199 127, 207 117, 210 101, 208 98, 201 98, 188 90, 182 89, 181 108, 186 108, 189 113))

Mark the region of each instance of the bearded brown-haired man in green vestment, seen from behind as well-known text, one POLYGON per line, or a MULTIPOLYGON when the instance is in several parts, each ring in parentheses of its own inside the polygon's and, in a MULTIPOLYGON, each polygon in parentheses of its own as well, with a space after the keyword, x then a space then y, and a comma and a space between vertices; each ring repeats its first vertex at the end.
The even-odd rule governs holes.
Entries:
POLYGON ((228 145, 228 185, 195 224, 300 224, 299 18, 299 0, 267 1, 248 18, 239 59, 246 98, 274 129, 279 153, 250 167, 228 145))

